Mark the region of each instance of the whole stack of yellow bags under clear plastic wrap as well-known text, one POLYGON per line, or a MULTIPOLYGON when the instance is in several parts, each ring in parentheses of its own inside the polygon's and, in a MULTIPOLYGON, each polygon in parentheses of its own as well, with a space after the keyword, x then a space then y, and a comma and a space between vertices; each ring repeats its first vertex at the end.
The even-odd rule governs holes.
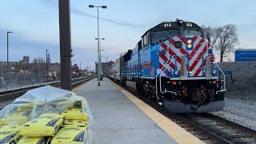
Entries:
POLYGON ((65 90, 58 93, 56 88, 47 89, 52 90, 55 99, 46 98, 48 102, 42 102, 43 93, 38 90, 0 110, 0 143, 54 144, 87 140, 84 138, 88 138, 90 110, 86 99, 65 90))

